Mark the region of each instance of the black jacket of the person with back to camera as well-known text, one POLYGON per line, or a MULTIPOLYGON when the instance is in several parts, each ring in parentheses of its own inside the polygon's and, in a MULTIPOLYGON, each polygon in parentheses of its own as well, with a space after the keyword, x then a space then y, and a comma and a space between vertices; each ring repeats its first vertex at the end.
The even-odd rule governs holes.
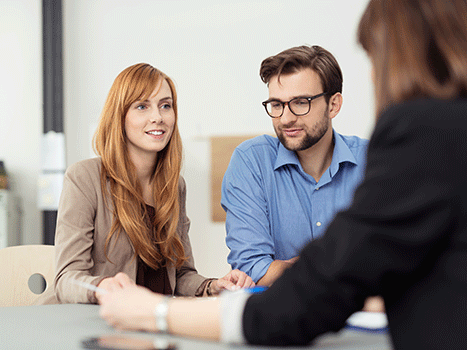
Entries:
POLYGON ((386 110, 352 205, 248 300, 247 340, 306 344, 382 295, 396 349, 466 348, 466 176, 467 99, 386 110))

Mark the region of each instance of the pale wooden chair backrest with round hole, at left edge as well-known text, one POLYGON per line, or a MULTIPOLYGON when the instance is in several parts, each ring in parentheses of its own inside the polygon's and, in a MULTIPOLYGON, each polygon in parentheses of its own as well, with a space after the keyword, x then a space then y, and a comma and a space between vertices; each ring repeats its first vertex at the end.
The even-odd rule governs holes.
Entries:
POLYGON ((29 288, 29 278, 34 274, 44 277, 45 290, 51 288, 55 273, 54 260, 55 247, 52 245, 21 245, 0 249, 0 306, 31 305, 40 296, 29 288))

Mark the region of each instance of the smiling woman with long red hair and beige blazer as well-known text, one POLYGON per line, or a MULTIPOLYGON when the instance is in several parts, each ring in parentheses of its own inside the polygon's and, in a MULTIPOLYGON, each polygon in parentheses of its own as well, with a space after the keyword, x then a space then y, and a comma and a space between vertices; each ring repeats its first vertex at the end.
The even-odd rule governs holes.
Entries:
POLYGON ((238 270, 207 279, 194 267, 177 121, 177 94, 168 76, 144 63, 117 76, 94 136, 99 157, 65 174, 55 295, 44 296, 43 303, 96 303, 103 291, 133 284, 184 296, 254 285, 238 270))

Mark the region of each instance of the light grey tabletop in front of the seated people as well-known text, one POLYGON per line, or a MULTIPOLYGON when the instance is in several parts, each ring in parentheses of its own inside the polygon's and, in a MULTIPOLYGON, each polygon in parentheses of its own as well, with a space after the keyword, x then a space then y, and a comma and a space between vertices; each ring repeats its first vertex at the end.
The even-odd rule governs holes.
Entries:
MULTIPOLYGON (((144 332, 118 332, 99 317, 99 306, 62 304, 0 307, 0 349, 83 349, 82 341, 105 335, 129 335, 145 339, 165 339, 177 350, 267 349, 261 346, 232 346, 192 338, 155 335, 144 332)), ((389 335, 344 329, 321 336, 312 349, 392 349, 389 335)), ((280 349, 280 348, 275 348, 280 349)), ((303 349, 289 347, 287 349, 303 349)))

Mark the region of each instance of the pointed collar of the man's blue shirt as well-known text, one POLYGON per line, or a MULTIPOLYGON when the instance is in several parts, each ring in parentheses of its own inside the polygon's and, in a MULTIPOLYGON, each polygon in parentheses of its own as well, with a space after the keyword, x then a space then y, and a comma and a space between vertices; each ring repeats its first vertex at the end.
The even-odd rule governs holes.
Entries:
MULTIPOLYGON (((340 163, 350 162, 357 164, 357 160, 355 159, 355 156, 350 151, 349 146, 347 146, 342 136, 336 133, 334 129, 332 129, 332 139, 334 141, 334 151, 332 154, 332 161, 331 165, 329 166, 329 170, 331 172, 331 176, 334 176, 339 170, 340 163)), ((279 142, 279 149, 277 151, 274 170, 277 170, 287 164, 295 164, 298 165, 300 169, 302 169, 302 165, 298 160, 297 154, 294 151, 289 151, 282 145, 281 142, 279 142)))

